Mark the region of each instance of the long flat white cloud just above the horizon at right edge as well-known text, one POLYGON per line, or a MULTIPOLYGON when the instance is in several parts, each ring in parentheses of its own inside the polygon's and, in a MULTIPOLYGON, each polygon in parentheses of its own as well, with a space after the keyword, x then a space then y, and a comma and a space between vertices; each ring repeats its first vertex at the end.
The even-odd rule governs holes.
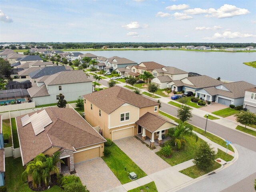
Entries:
POLYGON ((238 38, 248 38, 248 37, 256 37, 254 34, 243 34, 240 32, 231 32, 231 31, 225 31, 222 34, 221 33, 215 33, 212 37, 207 37, 205 39, 238 39, 238 38))

